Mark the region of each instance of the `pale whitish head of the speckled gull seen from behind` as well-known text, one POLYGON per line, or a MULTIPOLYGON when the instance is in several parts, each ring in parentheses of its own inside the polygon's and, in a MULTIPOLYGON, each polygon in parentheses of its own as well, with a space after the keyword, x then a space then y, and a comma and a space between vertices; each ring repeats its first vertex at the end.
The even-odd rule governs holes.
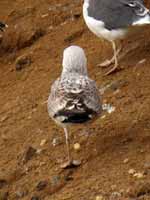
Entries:
POLYGON ((76 73, 87 75, 87 59, 83 49, 79 46, 70 46, 63 53, 62 74, 76 73))

